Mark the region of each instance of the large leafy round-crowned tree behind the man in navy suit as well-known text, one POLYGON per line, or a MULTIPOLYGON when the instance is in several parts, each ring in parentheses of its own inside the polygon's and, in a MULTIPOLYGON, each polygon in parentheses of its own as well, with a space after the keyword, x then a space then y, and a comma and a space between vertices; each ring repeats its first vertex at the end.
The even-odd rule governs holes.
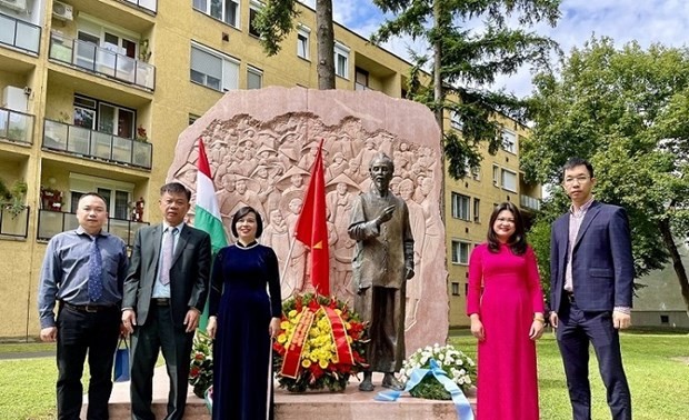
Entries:
MULTIPOLYGON (((689 233, 689 50, 643 50, 636 42, 616 49, 608 38, 592 38, 560 68, 535 78, 535 128, 522 142, 522 169, 557 186, 568 158, 588 158, 596 198, 629 213, 637 274, 671 261, 689 313, 676 242, 689 233)), ((537 226, 567 209, 557 192, 537 226)))

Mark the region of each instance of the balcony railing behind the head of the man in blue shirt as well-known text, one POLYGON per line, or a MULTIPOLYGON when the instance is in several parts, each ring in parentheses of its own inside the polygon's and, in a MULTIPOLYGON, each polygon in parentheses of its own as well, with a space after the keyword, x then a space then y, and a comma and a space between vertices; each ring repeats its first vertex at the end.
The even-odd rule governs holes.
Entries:
MULTIPOLYGON (((103 228, 107 232, 122 238, 127 247, 134 244, 137 231, 149 226, 148 222, 136 222, 126 219, 108 218, 108 222, 103 228)), ((38 211, 38 233, 37 239, 49 240, 60 232, 77 229, 77 213, 68 213, 62 211, 39 210, 38 211)))

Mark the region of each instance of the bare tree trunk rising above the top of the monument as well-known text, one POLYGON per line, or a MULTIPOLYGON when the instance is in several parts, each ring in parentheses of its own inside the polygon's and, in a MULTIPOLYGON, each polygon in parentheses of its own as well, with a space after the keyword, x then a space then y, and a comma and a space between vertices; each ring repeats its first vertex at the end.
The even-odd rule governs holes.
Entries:
POLYGON ((332 29, 332 0, 316 1, 318 39, 318 89, 334 89, 334 33, 332 29))

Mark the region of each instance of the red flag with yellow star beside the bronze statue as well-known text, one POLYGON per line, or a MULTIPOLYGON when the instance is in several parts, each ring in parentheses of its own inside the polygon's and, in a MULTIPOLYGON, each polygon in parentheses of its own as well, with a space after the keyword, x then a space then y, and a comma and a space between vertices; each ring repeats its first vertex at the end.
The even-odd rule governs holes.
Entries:
POLYGON ((328 251, 328 226, 326 223, 326 177, 323 174, 323 140, 321 139, 313 162, 309 189, 294 237, 309 247, 311 283, 320 294, 330 294, 330 257, 328 251))

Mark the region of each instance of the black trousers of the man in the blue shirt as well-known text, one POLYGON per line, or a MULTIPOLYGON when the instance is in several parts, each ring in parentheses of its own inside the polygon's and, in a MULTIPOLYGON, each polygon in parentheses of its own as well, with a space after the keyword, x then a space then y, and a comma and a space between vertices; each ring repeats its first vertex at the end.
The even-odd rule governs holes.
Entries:
POLYGON ((81 376, 89 356, 87 419, 108 419, 112 392, 112 362, 120 336, 120 310, 82 312, 61 307, 58 312, 58 419, 79 419, 83 399, 81 376))

